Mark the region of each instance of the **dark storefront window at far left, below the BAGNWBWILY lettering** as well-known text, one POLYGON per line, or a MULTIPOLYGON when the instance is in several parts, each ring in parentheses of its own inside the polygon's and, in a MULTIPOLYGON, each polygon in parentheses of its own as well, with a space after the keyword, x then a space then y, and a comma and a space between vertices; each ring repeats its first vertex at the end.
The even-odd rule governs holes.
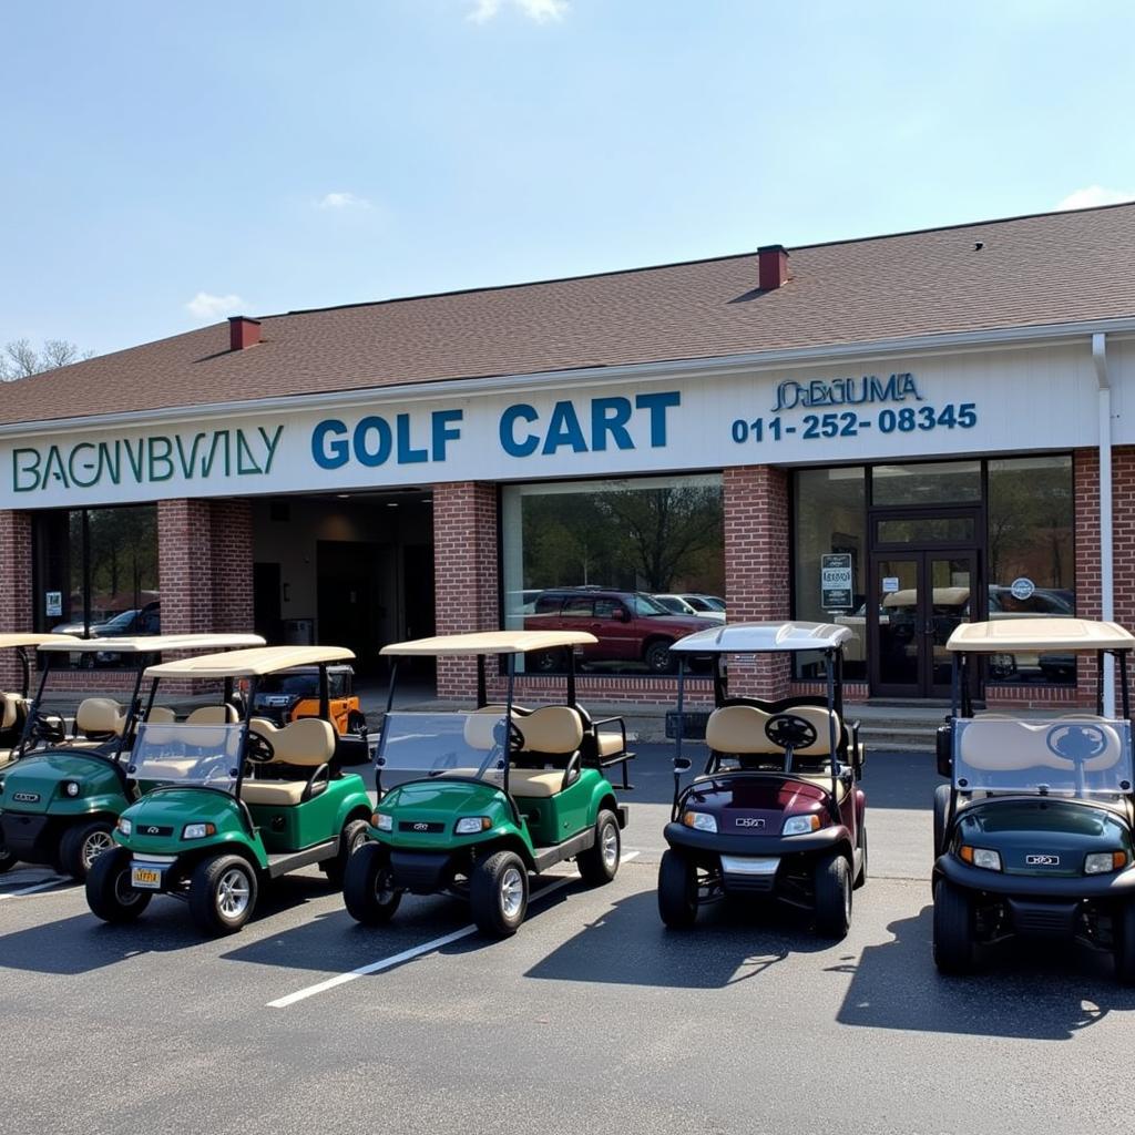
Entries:
MULTIPOLYGON (((157 634, 158 508, 85 508, 35 515, 35 629, 90 638, 157 634)), ((108 651, 86 664, 116 665, 108 651)))

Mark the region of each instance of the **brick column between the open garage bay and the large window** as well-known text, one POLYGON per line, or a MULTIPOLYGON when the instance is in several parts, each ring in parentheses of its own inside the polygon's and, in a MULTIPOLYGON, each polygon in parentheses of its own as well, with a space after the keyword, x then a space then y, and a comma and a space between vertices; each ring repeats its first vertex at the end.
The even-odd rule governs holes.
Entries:
MULTIPOLYGON (((434 487, 434 595, 438 634, 501 627, 497 490, 481 481, 434 487)), ((472 658, 437 659, 437 693, 470 698, 477 691, 472 658)))

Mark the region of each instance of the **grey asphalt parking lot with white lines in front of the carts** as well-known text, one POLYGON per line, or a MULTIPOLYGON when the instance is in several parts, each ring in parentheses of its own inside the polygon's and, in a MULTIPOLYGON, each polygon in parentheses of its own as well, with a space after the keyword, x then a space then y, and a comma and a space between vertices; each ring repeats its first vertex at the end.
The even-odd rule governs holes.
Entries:
POLYGON ((462 906, 355 925, 311 871, 238 935, 175 900, 110 927, 40 868, 0 876, 0 1132, 1084 1132, 1125 1123, 1135 992, 1076 949, 969 980, 930 953, 925 754, 873 754, 852 931, 723 906, 664 931, 669 749, 622 869, 539 884, 504 942, 462 906))

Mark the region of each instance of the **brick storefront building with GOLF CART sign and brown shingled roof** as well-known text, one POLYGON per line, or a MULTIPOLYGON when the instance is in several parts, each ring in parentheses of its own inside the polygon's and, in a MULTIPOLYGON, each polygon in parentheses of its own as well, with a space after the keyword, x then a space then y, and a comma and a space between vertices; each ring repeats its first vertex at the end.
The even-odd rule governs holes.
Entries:
MULTIPOLYGON (((646 647, 698 615, 650 596, 721 596, 851 625, 852 698, 940 697, 961 620, 1135 625, 1133 259, 1115 205, 242 317, 11 384, 0 625, 158 604, 163 631, 367 667, 572 617, 600 639, 581 697, 666 700, 646 647)), ((797 666, 730 681, 822 678, 797 666)), ((422 678, 472 687, 457 659, 422 678)), ((982 674, 994 704, 1094 681, 1059 655, 982 674)))

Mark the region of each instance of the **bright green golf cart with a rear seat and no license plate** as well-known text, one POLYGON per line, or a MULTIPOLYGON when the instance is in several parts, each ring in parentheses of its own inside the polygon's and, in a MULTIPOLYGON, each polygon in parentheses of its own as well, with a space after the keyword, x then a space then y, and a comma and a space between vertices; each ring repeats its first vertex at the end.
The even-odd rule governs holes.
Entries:
POLYGON ((623 767, 621 717, 592 721, 575 700, 574 648, 586 631, 488 631, 398 642, 376 765, 379 805, 370 838, 347 864, 343 897, 360 923, 388 922, 402 894, 469 900, 482 933, 514 934, 528 908, 529 873, 574 859, 583 880, 619 871, 627 807, 604 770, 623 767), (516 656, 562 650, 566 704, 513 703, 516 656), (406 656, 476 656, 477 707, 464 713, 394 711, 397 662, 406 656), (485 659, 506 662, 503 704, 486 697, 485 659), (616 726, 606 732, 602 726, 616 726), (384 794, 385 793, 385 794, 384 794))

